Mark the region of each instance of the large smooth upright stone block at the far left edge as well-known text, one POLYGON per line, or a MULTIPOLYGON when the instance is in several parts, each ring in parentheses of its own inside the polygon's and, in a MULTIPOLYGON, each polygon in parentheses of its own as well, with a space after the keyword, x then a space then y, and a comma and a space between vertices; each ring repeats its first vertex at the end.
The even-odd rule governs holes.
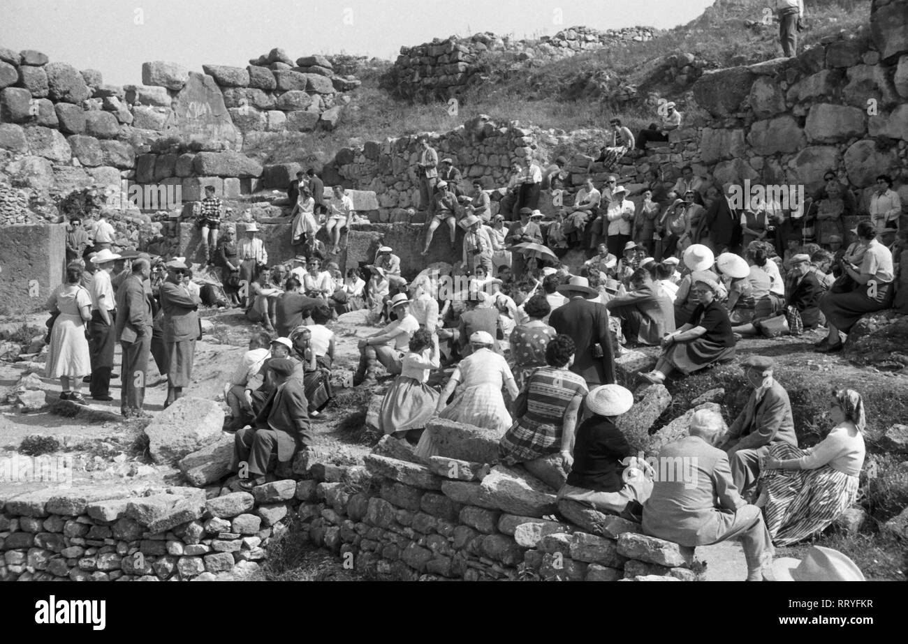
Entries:
POLYGON ((64 277, 66 230, 62 224, 6 226, 0 244, 0 311, 44 310, 64 277))

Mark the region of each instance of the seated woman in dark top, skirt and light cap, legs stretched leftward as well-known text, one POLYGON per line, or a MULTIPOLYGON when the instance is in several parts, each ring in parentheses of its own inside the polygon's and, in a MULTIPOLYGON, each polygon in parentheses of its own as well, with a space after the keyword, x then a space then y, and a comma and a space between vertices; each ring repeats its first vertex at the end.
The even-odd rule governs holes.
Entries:
POLYGON ((640 374, 645 380, 660 384, 673 371, 688 376, 716 362, 735 357, 735 334, 728 312, 716 301, 719 285, 709 278, 697 278, 694 292, 700 304, 683 327, 662 340, 663 353, 656 369, 640 374))

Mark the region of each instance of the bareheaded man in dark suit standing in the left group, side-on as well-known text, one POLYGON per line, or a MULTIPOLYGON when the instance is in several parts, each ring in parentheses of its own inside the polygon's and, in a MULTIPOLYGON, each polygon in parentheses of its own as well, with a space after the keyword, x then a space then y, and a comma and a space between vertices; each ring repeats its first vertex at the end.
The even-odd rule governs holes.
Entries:
POLYGON ((123 364, 120 366, 120 413, 123 417, 144 416, 145 380, 148 353, 152 345, 152 300, 145 280, 151 275, 151 262, 133 260, 133 271, 116 291, 119 315, 114 337, 120 341, 123 364))

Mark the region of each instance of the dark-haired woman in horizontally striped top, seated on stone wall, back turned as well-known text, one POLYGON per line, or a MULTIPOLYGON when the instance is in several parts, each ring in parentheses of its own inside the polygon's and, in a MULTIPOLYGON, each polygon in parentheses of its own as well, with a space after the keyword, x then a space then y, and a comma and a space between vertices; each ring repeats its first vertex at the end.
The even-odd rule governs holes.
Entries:
POLYGON ((544 350, 548 366, 528 376, 521 395, 526 408, 514 409, 517 420, 498 444, 502 463, 523 463, 556 490, 567 480, 577 411, 587 395, 587 382, 570 371, 576 350, 570 336, 562 334, 548 342, 544 350))

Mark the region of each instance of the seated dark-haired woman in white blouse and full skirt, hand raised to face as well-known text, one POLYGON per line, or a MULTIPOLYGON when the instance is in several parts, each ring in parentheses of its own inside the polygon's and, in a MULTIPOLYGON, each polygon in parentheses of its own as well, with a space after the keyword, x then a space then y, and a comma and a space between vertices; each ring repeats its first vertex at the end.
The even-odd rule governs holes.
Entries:
POLYGON ((429 373, 439 366, 439 337, 420 328, 410 338, 410 353, 403 356, 400 376, 381 401, 379 429, 384 434, 412 444, 419 441, 439 403, 439 392, 426 384, 429 373))

